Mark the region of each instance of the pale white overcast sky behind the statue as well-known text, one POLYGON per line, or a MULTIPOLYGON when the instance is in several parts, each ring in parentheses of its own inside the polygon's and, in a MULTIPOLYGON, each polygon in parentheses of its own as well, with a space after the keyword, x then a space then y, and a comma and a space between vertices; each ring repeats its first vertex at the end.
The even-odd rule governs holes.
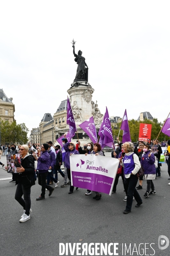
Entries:
POLYGON ((83 51, 104 114, 163 121, 170 95, 170 1, 1 1, 0 88, 31 130, 67 98, 83 51))

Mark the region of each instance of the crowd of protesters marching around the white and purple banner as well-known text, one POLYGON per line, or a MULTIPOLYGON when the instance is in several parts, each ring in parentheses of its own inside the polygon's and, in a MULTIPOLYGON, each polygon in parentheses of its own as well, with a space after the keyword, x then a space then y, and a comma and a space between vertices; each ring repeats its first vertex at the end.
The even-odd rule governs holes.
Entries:
MULTIPOLYGON (((115 143, 115 150, 112 151, 111 157, 118 158, 120 161, 118 171, 115 176, 115 182, 112 193, 116 193, 119 177, 121 176, 124 192, 126 196, 126 209, 124 214, 131 212, 133 200, 137 202, 135 207, 140 207, 142 202, 141 196, 138 194, 138 189, 143 189, 143 179, 147 180, 147 188, 144 197, 148 198, 150 195, 156 195, 153 180, 156 177, 161 177, 161 169, 159 165, 160 156, 162 154, 161 146, 167 146, 164 153, 165 161, 168 167, 168 174, 170 176, 170 140, 167 143, 159 143, 158 140, 153 140, 151 143, 147 141, 137 142, 135 145, 131 142, 121 143, 117 138, 118 143, 115 143), (156 145, 156 151, 152 152, 152 146, 156 145), (143 169, 143 174, 139 176, 140 170, 143 169), (139 184, 137 186, 139 180, 139 184)), ((23 207, 23 215, 20 222, 25 222, 30 219, 31 209, 31 186, 35 185, 35 180, 38 177, 38 184, 41 186, 40 196, 36 198, 37 201, 45 199, 46 191, 49 191, 49 196, 58 186, 58 172, 63 177, 62 187, 70 185, 69 194, 74 191, 74 186, 71 184, 70 172, 70 155, 72 154, 95 154, 104 156, 104 151, 101 150, 99 143, 88 143, 81 147, 79 141, 76 145, 73 142, 68 142, 66 136, 62 139, 63 147, 52 145, 52 141, 42 144, 40 147, 33 145, 35 151, 31 151, 31 143, 28 145, 19 145, 18 151, 14 144, 11 145, 10 154, 20 153, 21 166, 17 167, 17 174, 12 174, 12 180, 17 184, 15 199, 23 207), (35 168, 35 161, 37 161, 37 168, 35 168), (64 172, 61 170, 61 165, 64 166, 64 172), (37 173, 37 175, 36 175, 37 173), (55 173, 55 177, 54 177, 55 173), (68 179, 68 182, 67 182, 68 179), (50 186, 55 182, 55 188, 50 186), (23 196, 23 198, 22 198, 23 196)), ((170 177, 168 178, 170 180, 170 177)), ((170 183, 168 184, 170 185, 170 183)), ((78 187, 76 188, 78 189, 78 187)), ((87 189, 85 195, 92 194, 91 190, 87 189)), ((101 192, 95 192, 93 199, 100 200, 101 192)))

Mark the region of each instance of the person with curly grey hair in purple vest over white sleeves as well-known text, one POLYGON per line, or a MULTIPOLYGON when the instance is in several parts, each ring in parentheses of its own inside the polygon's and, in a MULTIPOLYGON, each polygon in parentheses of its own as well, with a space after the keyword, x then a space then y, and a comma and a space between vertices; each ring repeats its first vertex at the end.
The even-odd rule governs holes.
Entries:
POLYGON ((121 166, 124 167, 124 189, 127 194, 127 205, 126 209, 123 211, 124 214, 131 212, 133 196, 137 202, 135 207, 140 207, 142 200, 138 191, 135 189, 138 182, 137 173, 141 168, 138 156, 133 153, 134 145, 131 142, 124 143, 125 156, 123 160, 120 160, 121 166))

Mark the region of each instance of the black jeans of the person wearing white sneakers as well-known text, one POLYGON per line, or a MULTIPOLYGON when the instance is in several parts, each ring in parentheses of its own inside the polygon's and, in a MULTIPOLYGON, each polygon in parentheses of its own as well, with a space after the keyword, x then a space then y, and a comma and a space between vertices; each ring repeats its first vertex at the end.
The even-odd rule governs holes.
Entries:
POLYGON ((17 189, 15 192, 15 200, 17 200, 18 203, 22 205, 23 209, 26 210, 26 215, 28 216, 29 216, 29 210, 31 208, 30 195, 31 195, 31 187, 26 189, 20 183, 17 185, 17 189))

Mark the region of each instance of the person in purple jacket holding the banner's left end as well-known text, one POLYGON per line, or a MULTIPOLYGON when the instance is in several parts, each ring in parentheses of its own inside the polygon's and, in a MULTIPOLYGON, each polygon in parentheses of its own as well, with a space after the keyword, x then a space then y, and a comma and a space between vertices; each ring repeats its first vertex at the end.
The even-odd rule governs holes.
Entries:
MULTIPOLYGON (((66 135, 64 135, 64 138, 65 138, 65 144, 63 145, 63 148, 66 151, 65 166, 67 168, 67 176, 68 176, 69 180, 71 180, 69 157, 72 154, 79 154, 79 152, 75 149, 75 144, 74 143, 67 141, 66 135)), ((70 184, 69 194, 72 194, 73 190, 74 190, 74 186, 72 186, 72 184, 70 184)))

